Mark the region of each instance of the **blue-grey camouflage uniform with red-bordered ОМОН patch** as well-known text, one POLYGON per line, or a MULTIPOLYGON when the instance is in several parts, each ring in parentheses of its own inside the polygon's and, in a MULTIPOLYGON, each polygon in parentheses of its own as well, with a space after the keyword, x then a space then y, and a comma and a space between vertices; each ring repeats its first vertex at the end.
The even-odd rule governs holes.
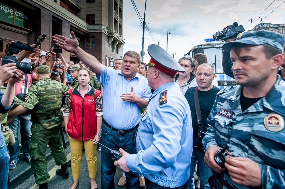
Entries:
MULTIPOLYGON (((229 143, 228 151, 233 156, 247 157, 258 163, 262 188, 285 188, 285 129, 282 129, 285 119, 285 82, 278 75, 268 94, 244 112, 240 105, 242 90, 243 87, 237 85, 217 94, 207 119, 209 127, 203 144, 207 150, 209 146, 225 147, 229 143), (279 115, 277 124, 270 124, 270 120, 265 119, 272 113, 279 115), (272 128, 282 130, 272 132, 272 128)), ((225 189, 261 188, 233 182, 227 170, 221 176, 222 181, 213 179, 225 189)))

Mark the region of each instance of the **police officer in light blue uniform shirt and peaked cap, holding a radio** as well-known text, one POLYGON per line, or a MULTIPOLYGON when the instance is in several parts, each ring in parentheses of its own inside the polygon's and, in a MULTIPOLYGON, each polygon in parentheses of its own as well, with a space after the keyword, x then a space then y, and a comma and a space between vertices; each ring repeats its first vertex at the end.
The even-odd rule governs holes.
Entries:
POLYGON ((143 174, 148 189, 180 189, 189 178, 193 148, 190 107, 174 82, 177 71, 185 70, 157 45, 148 53, 148 84, 154 92, 141 115, 137 154, 120 149, 123 156, 115 165, 143 174))

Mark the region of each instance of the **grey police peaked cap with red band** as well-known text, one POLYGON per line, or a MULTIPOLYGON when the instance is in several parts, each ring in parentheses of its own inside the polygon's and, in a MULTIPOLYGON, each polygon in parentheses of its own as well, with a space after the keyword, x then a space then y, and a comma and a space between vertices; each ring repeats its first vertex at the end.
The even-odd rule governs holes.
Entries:
POLYGON ((147 51, 151 57, 147 66, 153 66, 171 76, 175 76, 177 72, 185 72, 185 69, 160 46, 154 44, 149 45, 147 51))

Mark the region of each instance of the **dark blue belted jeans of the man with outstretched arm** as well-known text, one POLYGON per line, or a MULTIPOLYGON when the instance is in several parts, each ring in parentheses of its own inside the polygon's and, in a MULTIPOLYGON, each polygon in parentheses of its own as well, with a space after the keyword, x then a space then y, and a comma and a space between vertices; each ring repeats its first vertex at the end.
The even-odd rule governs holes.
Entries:
MULTIPOLYGON (((128 132, 121 136, 118 132, 107 127, 102 122, 101 128, 101 143, 108 148, 116 149, 119 151, 119 148, 124 149, 130 154, 137 153, 136 143, 135 143, 135 134, 137 129, 134 129, 132 132, 128 132)), ((101 189, 114 189, 114 175, 116 173, 116 166, 114 165, 114 160, 112 159, 113 155, 110 150, 101 148, 101 189), (104 159, 102 159, 102 157, 104 159)), ((126 188, 139 188, 139 174, 134 172, 126 173, 126 188)))

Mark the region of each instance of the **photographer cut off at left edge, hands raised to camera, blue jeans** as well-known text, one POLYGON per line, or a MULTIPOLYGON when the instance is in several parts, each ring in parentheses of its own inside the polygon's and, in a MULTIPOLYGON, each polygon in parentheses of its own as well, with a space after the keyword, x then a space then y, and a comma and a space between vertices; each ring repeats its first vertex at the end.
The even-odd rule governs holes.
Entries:
MULTIPOLYGON (((0 66, 0 84, 8 80, 5 93, 0 92, 0 113, 7 113, 13 106, 15 83, 23 77, 23 72, 17 70, 15 63, 8 63, 0 66)), ((5 144, 3 133, 0 132, 0 166, 1 176, 0 183, 3 188, 7 188, 9 173, 9 154, 5 144)))

